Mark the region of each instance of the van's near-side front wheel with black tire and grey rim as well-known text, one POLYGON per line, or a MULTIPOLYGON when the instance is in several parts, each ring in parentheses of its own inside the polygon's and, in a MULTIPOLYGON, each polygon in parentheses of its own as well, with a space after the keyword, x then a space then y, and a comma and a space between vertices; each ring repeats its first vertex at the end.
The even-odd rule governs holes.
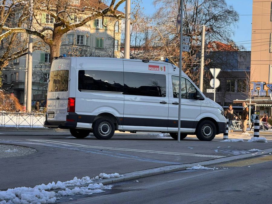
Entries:
POLYGON ((204 120, 196 128, 196 137, 200 141, 211 141, 215 137, 216 127, 212 121, 204 120))

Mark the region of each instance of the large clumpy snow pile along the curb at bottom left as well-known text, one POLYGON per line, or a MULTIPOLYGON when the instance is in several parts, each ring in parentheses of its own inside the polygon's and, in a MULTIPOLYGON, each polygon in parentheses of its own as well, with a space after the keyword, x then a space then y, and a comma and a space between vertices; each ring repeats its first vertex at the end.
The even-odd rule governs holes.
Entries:
MULTIPOLYGON (((100 179, 103 178, 118 178, 123 175, 118 173, 106 174, 100 173, 100 179)), ((102 193, 106 189, 112 189, 112 185, 104 186, 102 183, 92 184, 95 178, 90 179, 89 176, 85 176, 82 179, 74 177, 73 180, 57 183, 52 182, 47 185, 41 184, 31 187, 17 187, 8 189, 6 191, 0 191, 0 204, 12 204, 12 203, 55 203, 59 196, 74 196, 74 195, 91 195, 93 193, 102 193), (83 186, 84 185, 84 186, 83 186), (73 189, 67 187, 75 186, 73 189), (50 191, 53 189, 65 189, 60 190, 57 193, 50 191)))

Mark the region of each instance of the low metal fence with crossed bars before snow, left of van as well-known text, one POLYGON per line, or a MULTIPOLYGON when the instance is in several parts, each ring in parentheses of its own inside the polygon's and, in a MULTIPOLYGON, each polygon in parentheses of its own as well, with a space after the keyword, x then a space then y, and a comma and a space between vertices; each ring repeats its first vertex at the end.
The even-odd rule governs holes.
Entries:
POLYGON ((44 127, 44 113, 0 112, 0 127, 44 127))

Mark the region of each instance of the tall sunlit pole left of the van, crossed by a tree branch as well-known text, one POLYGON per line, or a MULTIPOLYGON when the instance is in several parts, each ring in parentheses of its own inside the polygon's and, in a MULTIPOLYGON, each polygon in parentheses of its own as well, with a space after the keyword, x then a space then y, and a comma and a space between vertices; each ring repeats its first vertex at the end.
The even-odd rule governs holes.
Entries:
MULTIPOLYGON (((32 14, 33 14, 33 0, 29 0, 29 29, 32 29, 32 14)), ((27 80, 27 112, 31 112, 31 98, 32 98, 32 35, 28 36, 28 80, 27 80)))

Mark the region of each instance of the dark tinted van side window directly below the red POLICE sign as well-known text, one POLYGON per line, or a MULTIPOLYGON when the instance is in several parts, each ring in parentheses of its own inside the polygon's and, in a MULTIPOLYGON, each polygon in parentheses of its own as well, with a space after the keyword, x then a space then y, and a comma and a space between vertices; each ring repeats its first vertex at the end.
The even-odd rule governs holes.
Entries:
POLYGON ((138 96, 166 96, 166 76, 153 73, 124 73, 124 93, 138 96))

